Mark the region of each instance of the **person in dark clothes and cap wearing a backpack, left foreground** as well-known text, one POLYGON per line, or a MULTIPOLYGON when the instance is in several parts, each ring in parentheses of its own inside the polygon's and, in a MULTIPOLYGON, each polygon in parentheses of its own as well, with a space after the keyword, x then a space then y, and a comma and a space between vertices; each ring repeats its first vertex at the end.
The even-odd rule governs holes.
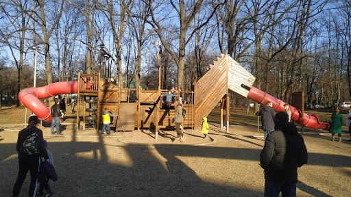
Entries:
POLYGON ((43 139, 43 131, 36 128, 37 124, 38 117, 30 116, 28 120, 28 127, 19 131, 19 137, 16 144, 16 150, 19 152, 19 174, 17 176, 16 183, 14 183, 14 188, 12 189, 12 196, 19 196, 28 170, 30 172, 29 196, 34 196, 34 194, 36 194, 36 182, 38 179, 40 157, 44 157, 46 160, 49 159, 43 139), (35 136, 32 138, 33 142, 38 142, 36 154, 25 152, 24 142, 26 142, 29 135, 35 136))

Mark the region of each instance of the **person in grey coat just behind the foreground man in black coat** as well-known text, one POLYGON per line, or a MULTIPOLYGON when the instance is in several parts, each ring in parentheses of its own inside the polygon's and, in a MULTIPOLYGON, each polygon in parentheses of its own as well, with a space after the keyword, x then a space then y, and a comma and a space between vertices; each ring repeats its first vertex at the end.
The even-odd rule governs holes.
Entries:
POLYGON ((266 106, 263 106, 259 111, 256 112, 256 116, 262 116, 262 129, 265 133, 265 140, 268 133, 274 131, 274 116, 276 111, 273 109, 273 103, 268 101, 266 106))

